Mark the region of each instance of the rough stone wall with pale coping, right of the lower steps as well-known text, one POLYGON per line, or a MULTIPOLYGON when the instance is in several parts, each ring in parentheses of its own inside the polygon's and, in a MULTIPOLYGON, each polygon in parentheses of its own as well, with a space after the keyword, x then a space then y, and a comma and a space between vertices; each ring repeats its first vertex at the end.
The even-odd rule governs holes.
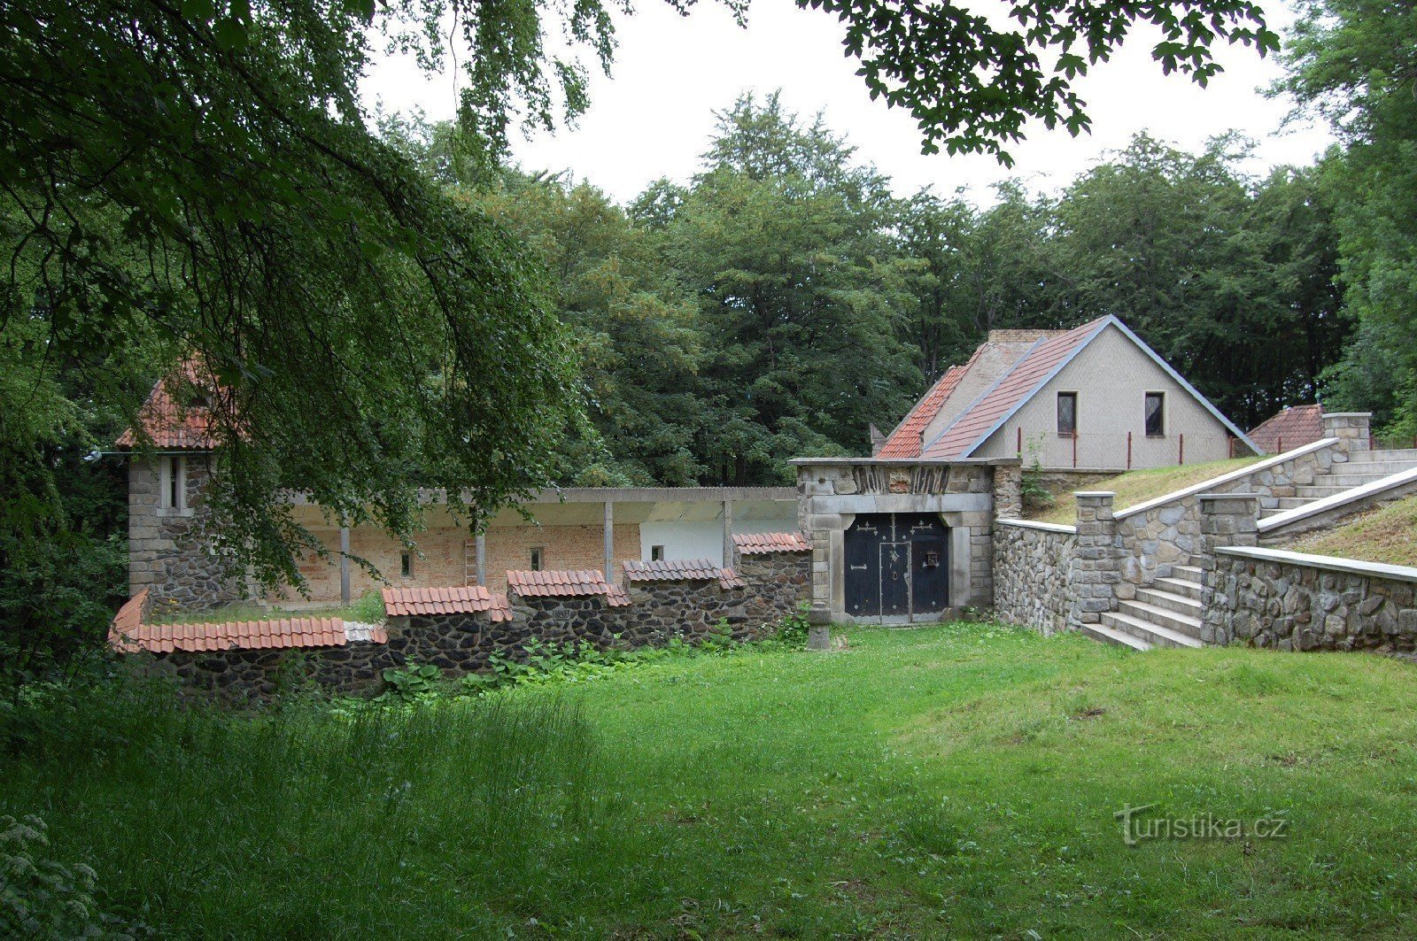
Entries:
POLYGON ((1206 633, 1280 650, 1417 649, 1417 568, 1271 548, 1214 554, 1206 633))

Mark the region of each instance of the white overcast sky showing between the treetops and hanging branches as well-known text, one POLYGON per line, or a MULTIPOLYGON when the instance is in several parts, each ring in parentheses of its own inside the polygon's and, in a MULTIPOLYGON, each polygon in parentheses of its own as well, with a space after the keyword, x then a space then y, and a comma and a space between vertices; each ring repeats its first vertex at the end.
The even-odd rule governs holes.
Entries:
MULTIPOLYGON (((1282 33, 1288 10, 1275 3, 1268 13, 1282 33)), ((1163 77, 1149 54, 1153 34, 1138 31, 1080 84, 1091 135, 1074 139, 1064 130, 1032 128, 1029 139, 1012 149, 1013 170, 986 156, 927 157, 910 115, 870 101, 854 60, 842 54, 843 30, 832 16, 801 10, 792 0, 754 0, 748 26, 740 28, 708 0, 689 17, 642 0, 635 16, 616 21, 614 74, 595 72, 589 112, 574 129, 517 140, 514 154, 529 170, 571 170, 619 201, 660 176, 687 180, 713 133, 713 112, 744 91, 781 88, 784 103, 803 116, 825 111, 828 123, 849 137, 859 157, 887 173, 900 194, 927 184, 938 193, 965 187, 983 203, 989 186, 1010 174, 1033 188, 1064 186, 1138 130, 1192 150, 1207 137, 1240 130, 1258 142, 1248 167, 1254 171, 1309 163, 1331 140, 1312 125, 1281 130, 1288 102, 1261 94, 1280 74, 1272 58, 1220 47, 1226 72, 1202 89, 1163 77)), ((444 119, 453 112, 456 78, 451 71, 429 78, 408 60, 385 60, 367 77, 366 98, 385 111, 421 108, 429 119, 444 119)))

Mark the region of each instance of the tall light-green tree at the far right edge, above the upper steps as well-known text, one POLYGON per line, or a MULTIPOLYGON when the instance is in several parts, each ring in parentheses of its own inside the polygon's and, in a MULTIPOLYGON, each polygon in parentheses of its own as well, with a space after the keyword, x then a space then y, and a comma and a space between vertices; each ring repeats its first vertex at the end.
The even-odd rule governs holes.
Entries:
POLYGON ((1391 0, 1305 0, 1285 54, 1301 113, 1343 143, 1325 162, 1339 281, 1357 342, 1329 376, 1331 404, 1417 432, 1417 10, 1391 0))

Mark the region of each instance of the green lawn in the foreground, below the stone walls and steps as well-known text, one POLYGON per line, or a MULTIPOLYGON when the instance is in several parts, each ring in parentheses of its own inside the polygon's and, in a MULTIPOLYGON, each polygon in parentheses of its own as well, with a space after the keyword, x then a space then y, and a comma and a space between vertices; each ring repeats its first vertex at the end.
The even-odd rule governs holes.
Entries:
POLYGON ((0 795, 173 937, 1417 931, 1413 666, 847 638, 354 720, 81 699, 0 795), (1288 836, 1128 847, 1145 804, 1288 836))

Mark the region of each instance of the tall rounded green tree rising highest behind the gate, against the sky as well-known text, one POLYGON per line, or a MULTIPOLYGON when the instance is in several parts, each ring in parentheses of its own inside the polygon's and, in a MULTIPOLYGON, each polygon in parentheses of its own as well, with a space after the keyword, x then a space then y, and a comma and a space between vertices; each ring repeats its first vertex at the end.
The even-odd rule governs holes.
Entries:
POLYGON ((920 384, 897 339, 918 265, 886 232, 886 179, 775 95, 723 112, 704 163, 663 238, 699 300, 708 478, 777 482, 784 458, 863 451, 920 384))

